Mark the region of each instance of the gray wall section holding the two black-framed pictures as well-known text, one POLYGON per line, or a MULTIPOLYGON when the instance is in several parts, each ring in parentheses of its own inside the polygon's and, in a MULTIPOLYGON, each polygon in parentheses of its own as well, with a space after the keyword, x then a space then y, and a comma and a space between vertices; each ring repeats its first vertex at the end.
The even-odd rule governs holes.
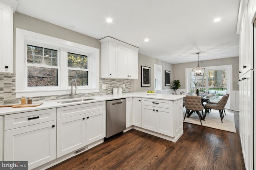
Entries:
POLYGON ((170 89, 170 86, 164 86, 164 70, 171 72, 170 81, 172 82, 172 64, 165 63, 158 59, 154 59, 152 57, 148 57, 146 55, 140 54, 138 55, 138 79, 131 81, 131 91, 132 92, 143 92, 148 90, 154 90, 154 64, 158 64, 162 66, 162 89, 170 89), (141 87, 141 66, 150 67, 150 87, 141 87))

